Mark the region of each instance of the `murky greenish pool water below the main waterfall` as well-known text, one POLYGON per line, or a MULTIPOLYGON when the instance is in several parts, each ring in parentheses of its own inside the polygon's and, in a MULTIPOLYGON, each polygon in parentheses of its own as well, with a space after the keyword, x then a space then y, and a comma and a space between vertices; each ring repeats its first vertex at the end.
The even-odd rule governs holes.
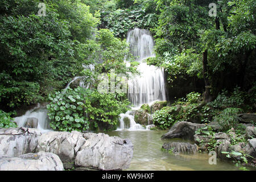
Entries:
MULTIPOLYGON (((222 162, 217 159, 217 164, 210 165, 208 154, 175 155, 162 151, 162 145, 166 140, 160 137, 166 131, 112 131, 106 134, 129 138, 134 146, 133 159, 127 170, 143 171, 224 171, 239 170, 232 162, 222 162)), ((177 141, 177 139, 174 139, 177 141)), ((181 140, 179 140, 181 141, 181 140)))

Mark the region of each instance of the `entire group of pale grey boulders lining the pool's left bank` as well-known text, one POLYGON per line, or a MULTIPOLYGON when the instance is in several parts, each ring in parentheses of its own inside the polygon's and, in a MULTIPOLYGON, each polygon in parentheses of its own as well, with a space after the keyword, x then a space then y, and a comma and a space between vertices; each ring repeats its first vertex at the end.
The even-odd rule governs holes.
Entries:
POLYGON ((129 139, 103 133, 0 128, 0 170, 122 170, 130 166, 129 139))

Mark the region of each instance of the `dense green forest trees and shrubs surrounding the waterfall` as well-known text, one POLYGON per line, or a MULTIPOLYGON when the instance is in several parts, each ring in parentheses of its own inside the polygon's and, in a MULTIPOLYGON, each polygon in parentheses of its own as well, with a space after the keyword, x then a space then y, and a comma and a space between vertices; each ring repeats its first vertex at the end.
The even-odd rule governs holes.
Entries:
MULTIPOLYGON (((3 0, 0 5, 1 127, 14 125, 8 122, 14 110, 38 102, 50 103, 53 129, 117 125, 129 101, 124 93, 99 93, 98 77, 111 69, 137 73, 125 40, 135 27, 154 36, 156 56, 147 63, 166 71, 169 100, 188 107, 177 118, 198 111, 207 122, 222 111, 224 117, 255 112, 253 0, 3 0), (210 3, 217 5, 216 16, 210 3), (93 71, 85 69, 90 65, 93 71), (75 76, 85 76, 90 88, 63 92, 75 76)), ((170 122, 168 111, 161 112, 170 122)))

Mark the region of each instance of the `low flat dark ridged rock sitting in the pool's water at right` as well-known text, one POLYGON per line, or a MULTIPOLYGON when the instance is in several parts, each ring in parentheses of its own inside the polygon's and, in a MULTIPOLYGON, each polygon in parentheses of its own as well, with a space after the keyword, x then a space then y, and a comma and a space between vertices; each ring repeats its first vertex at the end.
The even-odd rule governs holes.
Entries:
POLYGON ((174 154, 196 154, 198 147, 196 144, 185 142, 168 142, 164 143, 162 148, 172 150, 174 154))

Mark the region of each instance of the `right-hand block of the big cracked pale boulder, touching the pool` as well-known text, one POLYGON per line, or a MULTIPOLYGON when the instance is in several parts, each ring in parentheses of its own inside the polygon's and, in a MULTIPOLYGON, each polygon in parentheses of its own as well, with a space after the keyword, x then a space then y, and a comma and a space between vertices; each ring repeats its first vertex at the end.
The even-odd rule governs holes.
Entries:
POLYGON ((76 166, 101 170, 129 168, 133 157, 133 145, 129 139, 102 133, 86 133, 84 137, 86 142, 77 152, 76 166))

